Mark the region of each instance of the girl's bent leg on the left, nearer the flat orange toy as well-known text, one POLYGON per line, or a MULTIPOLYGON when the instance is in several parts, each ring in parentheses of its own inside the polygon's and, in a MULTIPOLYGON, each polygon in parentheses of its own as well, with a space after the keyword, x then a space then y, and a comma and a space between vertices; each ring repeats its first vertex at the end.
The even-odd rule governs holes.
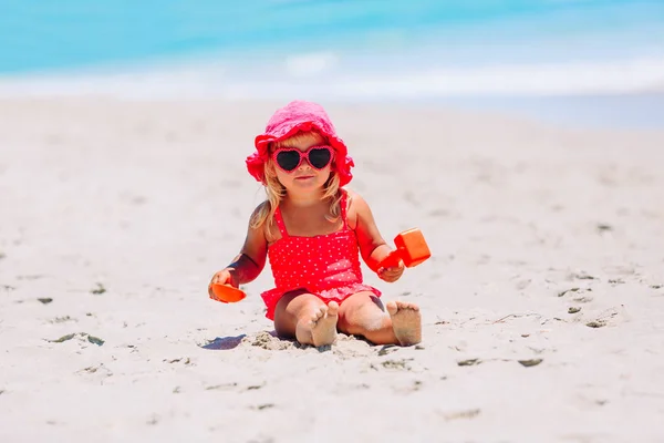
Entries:
POLYGON ((336 339, 339 305, 307 291, 292 291, 279 300, 274 310, 274 330, 280 337, 295 338, 314 347, 332 344, 336 339))

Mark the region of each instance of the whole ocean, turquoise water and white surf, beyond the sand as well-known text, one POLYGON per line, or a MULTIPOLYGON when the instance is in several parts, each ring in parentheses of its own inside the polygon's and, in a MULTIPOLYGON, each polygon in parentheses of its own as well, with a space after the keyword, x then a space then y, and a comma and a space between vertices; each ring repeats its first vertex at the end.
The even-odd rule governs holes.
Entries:
POLYGON ((605 123, 625 121, 613 109, 630 95, 630 124, 664 126, 662 0, 0 0, 0 11, 4 96, 434 100, 530 114, 546 99, 558 103, 549 117, 574 102, 605 123))

